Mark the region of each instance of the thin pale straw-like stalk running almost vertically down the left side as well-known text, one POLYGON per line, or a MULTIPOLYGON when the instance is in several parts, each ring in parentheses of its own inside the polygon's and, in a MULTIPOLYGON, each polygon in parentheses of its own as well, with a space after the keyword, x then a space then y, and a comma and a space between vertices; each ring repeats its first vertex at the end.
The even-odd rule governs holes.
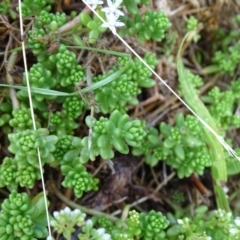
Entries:
MULTIPOLYGON (((23 53, 23 62, 24 62, 26 83, 27 83, 27 91, 28 91, 28 97, 29 97, 29 105, 30 105, 31 118, 32 118, 32 123, 33 123, 33 130, 36 131, 37 128, 36 128, 36 121, 35 121, 35 116, 34 116, 34 111, 33 111, 31 88, 30 88, 29 77, 28 77, 25 43, 24 43, 24 39, 23 39, 24 32, 23 32, 23 17, 22 17, 21 0, 18 0, 18 5, 19 5, 19 18, 20 18, 20 31, 21 31, 21 39, 22 39, 22 53, 23 53)), ((37 152, 38 152, 38 163, 39 163, 39 169, 40 169, 41 181, 42 181, 42 187, 43 187, 43 197, 44 197, 44 204, 45 204, 45 210, 46 210, 48 232, 49 232, 49 236, 51 237, 51 226, 50 226, 50 218, 49 218, 49 213, 48 213, 47 194, 46 194, 46 187, 45 187, 45 182, 44 182, 44 177, 43 177, 43 168, 42 168, 41 154, 40 154, 39 148, 37 149, 37 152)))

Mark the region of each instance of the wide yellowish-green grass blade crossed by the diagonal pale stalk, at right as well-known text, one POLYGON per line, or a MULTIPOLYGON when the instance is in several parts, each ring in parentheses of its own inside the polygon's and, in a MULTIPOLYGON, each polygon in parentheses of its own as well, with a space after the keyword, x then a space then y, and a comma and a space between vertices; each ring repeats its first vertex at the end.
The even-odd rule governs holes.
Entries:
MULTIPOLYGON (((182 92, 186 103, 201 117, 216 133, 217 127, 208 109, 198 97, 192 83, 189 81, 186 69, 184 68, 180 52, 187 35, 183 39, 177 55, 177 71, 182 92)), ((221 186, 222 182, 227 181, 227 168, 225 162, 224 150, 216 137, 205 127, 203 127, 204 138, 209 146, 209 153, 212 159, 212 177, 216 201, 219 208, 230 211, 227 196, 221 186)))

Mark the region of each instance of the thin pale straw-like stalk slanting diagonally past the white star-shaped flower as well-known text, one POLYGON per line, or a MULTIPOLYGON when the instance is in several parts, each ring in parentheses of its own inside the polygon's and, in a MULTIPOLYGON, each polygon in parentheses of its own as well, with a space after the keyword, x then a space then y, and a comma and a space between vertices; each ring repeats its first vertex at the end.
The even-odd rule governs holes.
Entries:
MULTIPOLYGON (((91 9, 91 11, 99 18, 103 23, 107 23, 85 0, 83 2, 91 9)), ((226 143, 222 136, 219 136, 198 114, 131 48, 128 43, 113 29, 110 28, 112 33, 118 37, 118 39, 146 66, 149 71, 152 72, 168 89, 171 91, 179 101, 188 108, 188 110, 216 137, 216 139, 221 143, 221 145, 226 149, 226 151, 232 156, 240 161, 240 157, 237 156, 236 152, 226 143)))

